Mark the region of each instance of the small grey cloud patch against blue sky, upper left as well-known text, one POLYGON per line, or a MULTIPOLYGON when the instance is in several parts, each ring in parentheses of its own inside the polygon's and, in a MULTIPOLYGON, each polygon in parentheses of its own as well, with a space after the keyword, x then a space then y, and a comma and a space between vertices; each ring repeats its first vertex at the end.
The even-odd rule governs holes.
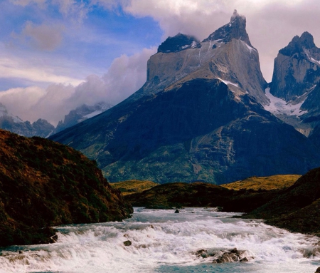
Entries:
POLYGON ((63 25, 35 25, 31 21, 26 22, 21 38, 30 41, 32 46, 43 51, 53 51, 60 46, 63 40, 63 25))

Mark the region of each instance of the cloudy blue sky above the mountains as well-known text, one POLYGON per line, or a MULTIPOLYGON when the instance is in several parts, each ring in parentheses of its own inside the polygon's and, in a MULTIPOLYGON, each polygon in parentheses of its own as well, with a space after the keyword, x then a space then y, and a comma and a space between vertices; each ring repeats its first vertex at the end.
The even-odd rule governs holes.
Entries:
POLYGON ((294 36, 309 31, 320 47, 319 0, 0 0, 0 103, 53 125, 84 103, 117 104, 142 87, 168 36, 202 41, 234 9, 268 82, 294 36))

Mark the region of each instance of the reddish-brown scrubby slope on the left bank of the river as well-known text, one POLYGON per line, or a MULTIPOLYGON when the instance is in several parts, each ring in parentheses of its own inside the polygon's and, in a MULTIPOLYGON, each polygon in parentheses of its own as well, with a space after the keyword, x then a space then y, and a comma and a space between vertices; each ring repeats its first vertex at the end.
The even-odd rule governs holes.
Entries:
POLYGON ((78 151, 4 130, 0 143, 0 246, 50 242, 50 226, 122 220, 132 212, 78 151))

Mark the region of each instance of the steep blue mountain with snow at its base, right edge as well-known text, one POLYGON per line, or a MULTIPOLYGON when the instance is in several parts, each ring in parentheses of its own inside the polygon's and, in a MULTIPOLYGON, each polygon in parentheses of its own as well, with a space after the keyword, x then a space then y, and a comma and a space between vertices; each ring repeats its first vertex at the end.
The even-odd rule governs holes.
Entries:
POLYGON ((319 82, 320 48, 316 47, 314 37, 304 32, 279 50, 274 60, 272 82, 267 90, 270 103, 266 109, 311 136, 320 121, 319 82))

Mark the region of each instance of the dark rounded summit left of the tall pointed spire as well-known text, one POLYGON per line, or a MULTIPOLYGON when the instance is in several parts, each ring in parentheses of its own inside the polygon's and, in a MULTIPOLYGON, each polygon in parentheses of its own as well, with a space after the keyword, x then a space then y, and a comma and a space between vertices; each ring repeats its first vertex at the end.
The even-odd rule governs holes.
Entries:
POLYGON ((158 48, 158 53, 171 53, 183 51, 188 48, 199 48, 201 47, 200 41, 194 36, 178 33, 174 37, 166 38, 166 41, 161 43, 158 48))

